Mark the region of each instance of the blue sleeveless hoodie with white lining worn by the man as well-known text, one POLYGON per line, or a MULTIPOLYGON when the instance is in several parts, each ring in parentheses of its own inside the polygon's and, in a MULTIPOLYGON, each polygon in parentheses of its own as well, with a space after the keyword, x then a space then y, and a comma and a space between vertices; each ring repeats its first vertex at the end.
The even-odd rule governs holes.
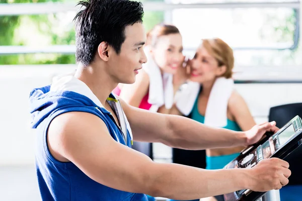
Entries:
MULTIPOLYGON (((109 99, 118 102, 113 94, 109 99)), ((125 121, 127 134, 124 136, 110 112, 84 82, 72 75, 59 77, 52 85, 33 89, 29 100, 31 126, 37 135, 35 159, 42 200, 147 201, 144 194, 113 189, 94 181, 72 162, 60 162, 49 152, 46 134, 50 122, 58 115, 72 111, 98 116, 105 122, 114 140, 131 147, 132 134, 128 121, 125 121)))

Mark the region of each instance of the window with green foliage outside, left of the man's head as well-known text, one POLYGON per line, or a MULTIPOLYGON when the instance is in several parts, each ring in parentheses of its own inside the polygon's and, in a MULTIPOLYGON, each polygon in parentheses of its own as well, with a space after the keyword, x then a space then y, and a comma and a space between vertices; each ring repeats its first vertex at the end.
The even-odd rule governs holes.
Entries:
POLYGON ((73 17, 74 12, 0 16, 0 26, 9 27, 0 36, 0 64, 75 63, 73 17), (68 54, 56 53, 66 47, 68 54))

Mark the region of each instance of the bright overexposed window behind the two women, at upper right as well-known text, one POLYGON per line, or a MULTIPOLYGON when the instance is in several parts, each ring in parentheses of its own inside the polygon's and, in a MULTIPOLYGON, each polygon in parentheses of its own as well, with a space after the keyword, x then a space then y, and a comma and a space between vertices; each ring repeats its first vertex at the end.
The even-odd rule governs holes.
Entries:
POLYGON ((270 0, 265 7, 261 7, 263 1, 254 0, 171 2, 202 5, 172 10, 172 23, 182 33, 187 55, 194 55, 201 39, 219 37, 234 49, 236 66, 302 64, 298 58, 302 53, 298 43, 298 2, 270 0), (234 3, 232 8, 225 6, 230 3, 234 3), (241 7, 238 3, 253 3, 254 6, 249 8, 244 4, 246 7, 241 7), (275 7, 274 3, 279 4, 275 7), (204 6, 207 4, 212 4, 211 8, 204 6))

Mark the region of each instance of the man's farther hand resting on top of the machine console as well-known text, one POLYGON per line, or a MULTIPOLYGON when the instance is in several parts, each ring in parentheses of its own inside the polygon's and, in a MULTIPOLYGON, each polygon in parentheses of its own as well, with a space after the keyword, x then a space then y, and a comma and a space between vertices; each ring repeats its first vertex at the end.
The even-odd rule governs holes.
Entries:
POLYGON ((276 122, 267 122, 260 125, 255 125, 253 128, 245 132, 246 146, 257 143, 263 135, 270 131, 276 133, 279 129, 276 127, 276 122))

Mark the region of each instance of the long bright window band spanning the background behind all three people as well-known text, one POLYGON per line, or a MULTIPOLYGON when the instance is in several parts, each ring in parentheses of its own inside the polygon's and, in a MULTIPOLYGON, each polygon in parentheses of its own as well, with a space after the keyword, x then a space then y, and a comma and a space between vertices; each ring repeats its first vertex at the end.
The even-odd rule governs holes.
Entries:
MULTIPOLYGON (((15 13, 0 16, 0 27, 7 27, 0 30, 0 64, 75 63, 72 19, 78 1, 52 1, 64 3, 61 7, 51 3, 24 4, 17 9, 0 5, 0 13, 15 13), (8 49, 1 45, 18 47, 8 49), (22 53, 22 48, 33 54, 17 54, 22 53), (11 50, 15 53, 2 54, 11 50), (42 50, 48 53, 34 54, 42 50)), ((183 35, 185 54, 193 55, 202 38, 219 37, 234 49, 237 65, 302 64, 297 56, 302 53, 298 45, 299 1, 144 0, 142 3, 146 31, 161 22, 176 25, 183 35)))

